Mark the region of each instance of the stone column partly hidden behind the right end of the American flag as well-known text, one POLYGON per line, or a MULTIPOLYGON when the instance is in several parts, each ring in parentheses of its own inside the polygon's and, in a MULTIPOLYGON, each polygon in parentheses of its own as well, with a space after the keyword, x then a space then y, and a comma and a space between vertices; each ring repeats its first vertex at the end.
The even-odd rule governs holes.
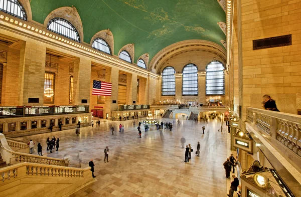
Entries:
POLYGON ((112 83, 112 95, 105 97, 104 117, 106 116, 106 113, 111 117, 111 111, 118 110, 118 79, 119 70, 117 68, 105 69, 105 81, 112 83), (116 103, 113 103, 113 101, 116 101, 116 103))

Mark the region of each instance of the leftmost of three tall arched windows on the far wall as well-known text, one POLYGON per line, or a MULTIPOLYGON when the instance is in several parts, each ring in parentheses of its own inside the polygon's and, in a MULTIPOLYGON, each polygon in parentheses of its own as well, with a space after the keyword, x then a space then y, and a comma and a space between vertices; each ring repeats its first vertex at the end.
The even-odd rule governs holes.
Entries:
POLYGON ((162 71, 162 96, 174 96, 176 94, 175 69, 171 66, 162 71))

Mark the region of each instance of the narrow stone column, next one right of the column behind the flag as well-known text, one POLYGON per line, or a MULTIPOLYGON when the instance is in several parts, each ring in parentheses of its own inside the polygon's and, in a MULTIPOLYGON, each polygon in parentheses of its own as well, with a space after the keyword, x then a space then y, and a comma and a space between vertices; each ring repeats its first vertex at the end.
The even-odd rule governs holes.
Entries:
POLYGON ((137 98, 137 75, 135 73, 126 75, 126 104, 132 105, 137 98))

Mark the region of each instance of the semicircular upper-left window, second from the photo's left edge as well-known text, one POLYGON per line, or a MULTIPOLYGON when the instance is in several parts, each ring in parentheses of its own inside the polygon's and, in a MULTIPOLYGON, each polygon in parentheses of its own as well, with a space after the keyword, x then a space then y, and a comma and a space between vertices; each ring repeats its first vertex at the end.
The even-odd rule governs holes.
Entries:
POLYGON ((70 22, 66 21, 65 19, 51 19, 47 25, 47 29, 59 35, 65 36, 71 40, 80 42, 77 30, 70 22))

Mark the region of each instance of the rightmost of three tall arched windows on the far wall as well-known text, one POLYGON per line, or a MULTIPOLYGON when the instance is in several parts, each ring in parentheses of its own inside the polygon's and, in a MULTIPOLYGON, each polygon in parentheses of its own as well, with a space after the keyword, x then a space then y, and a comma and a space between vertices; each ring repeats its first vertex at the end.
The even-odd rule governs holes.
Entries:
POLYGON ((224 65, 212 61, 206 67, 206 95, 225 95, 224 65))

